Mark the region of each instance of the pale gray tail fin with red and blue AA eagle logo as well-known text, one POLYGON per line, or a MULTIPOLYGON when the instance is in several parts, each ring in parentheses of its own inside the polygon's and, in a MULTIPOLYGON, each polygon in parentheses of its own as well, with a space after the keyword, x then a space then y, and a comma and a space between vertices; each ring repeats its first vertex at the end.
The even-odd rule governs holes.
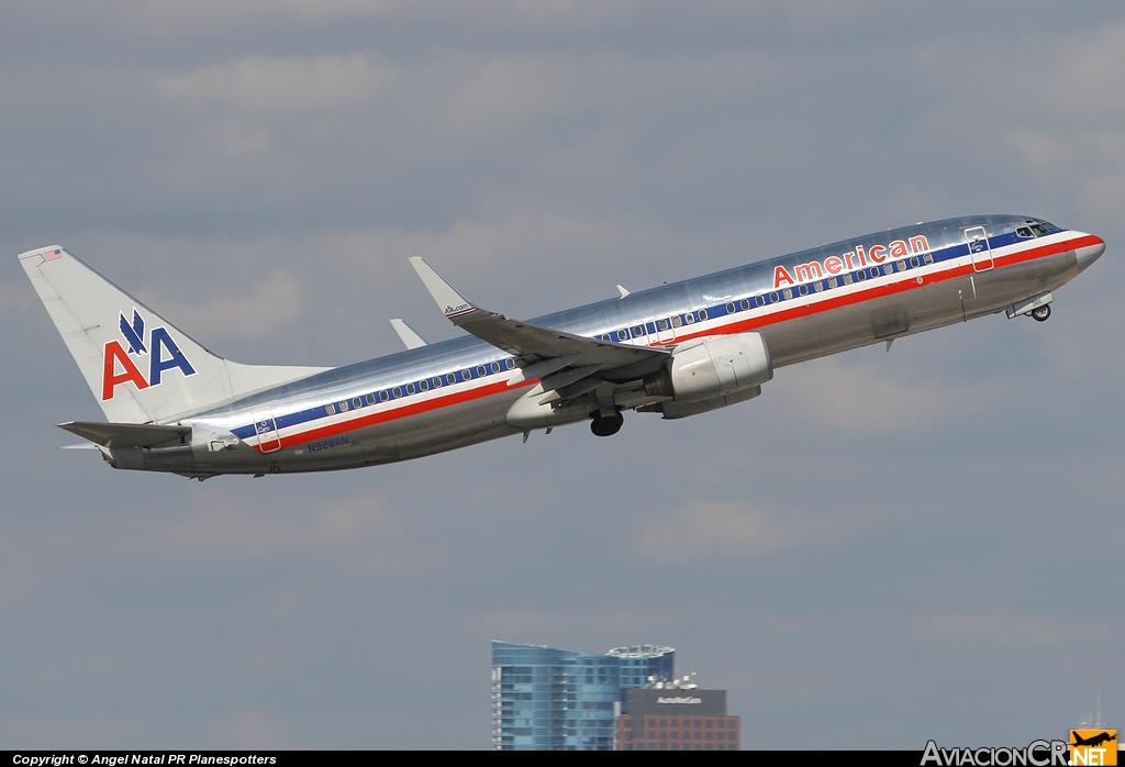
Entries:
POLYGON ((19 262, 111 422, 166 422, 328 370, 216 357, 57 245, 19 262))

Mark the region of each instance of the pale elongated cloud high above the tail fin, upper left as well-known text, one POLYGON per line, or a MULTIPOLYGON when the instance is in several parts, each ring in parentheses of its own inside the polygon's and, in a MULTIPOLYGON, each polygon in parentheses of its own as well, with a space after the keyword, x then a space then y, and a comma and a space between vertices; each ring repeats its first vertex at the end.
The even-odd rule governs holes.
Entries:
POLYGON ((161 74, 156 92, 180 108, 299 112, 356 107, 394 80, 370 54, 316 58, 251 56, 189 72, 161 74))

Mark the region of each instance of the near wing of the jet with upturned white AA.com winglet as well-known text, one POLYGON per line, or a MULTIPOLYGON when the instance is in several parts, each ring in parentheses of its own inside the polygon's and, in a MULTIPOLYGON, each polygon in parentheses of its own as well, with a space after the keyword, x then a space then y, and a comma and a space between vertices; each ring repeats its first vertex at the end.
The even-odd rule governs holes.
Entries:
POLYGON ((411 264, 450 322, 478 339, 515 354, 521 364, 574 358, 564 364, 592 368, 591 372, 609 372, 615 368, 629 368, 645 362, 652 363, 655 368, 670 354, 665 349, 631 346, 552 331, 482 309, 461 296, 422 259, 414 256, 411 264))

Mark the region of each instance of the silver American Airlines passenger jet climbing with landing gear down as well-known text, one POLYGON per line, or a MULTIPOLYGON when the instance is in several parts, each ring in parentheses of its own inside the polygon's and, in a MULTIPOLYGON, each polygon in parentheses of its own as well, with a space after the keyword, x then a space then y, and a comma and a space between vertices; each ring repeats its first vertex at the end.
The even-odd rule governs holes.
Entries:
POLYGON ((747 401, 774 370, 1005 312, 1051 316, 1053 291, 1105 252, 1024 216, 888 229, 528 322, 411 263, 466 334, 341 368, 212 353, 61 246, 19 255, 106 422, 60 427, 111 467, 204 480, 390 463, 622 413, 684 418, 747 401))

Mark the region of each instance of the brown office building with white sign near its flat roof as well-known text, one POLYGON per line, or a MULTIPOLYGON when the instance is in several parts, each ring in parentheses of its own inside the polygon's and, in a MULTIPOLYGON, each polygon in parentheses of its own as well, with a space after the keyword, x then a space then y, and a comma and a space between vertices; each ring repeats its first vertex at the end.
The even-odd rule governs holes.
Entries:
POLYGON ((618 716, 622 751, 737 751, 741 721, 727 715, 726 689, 627 689, 618 716))

